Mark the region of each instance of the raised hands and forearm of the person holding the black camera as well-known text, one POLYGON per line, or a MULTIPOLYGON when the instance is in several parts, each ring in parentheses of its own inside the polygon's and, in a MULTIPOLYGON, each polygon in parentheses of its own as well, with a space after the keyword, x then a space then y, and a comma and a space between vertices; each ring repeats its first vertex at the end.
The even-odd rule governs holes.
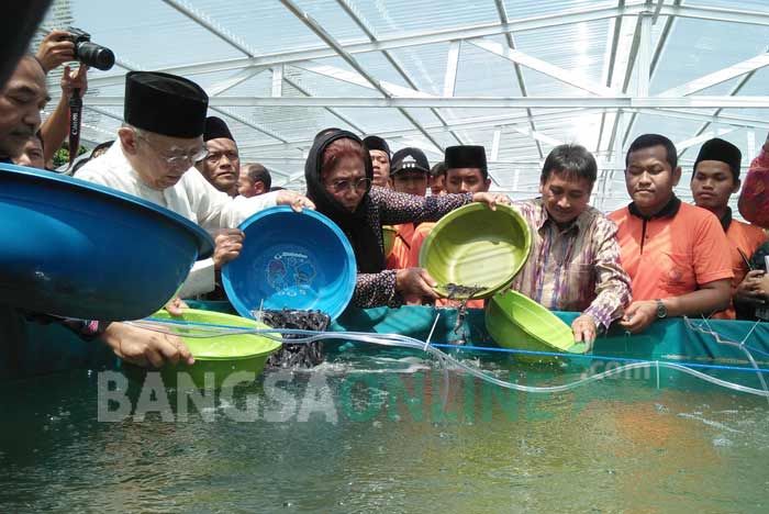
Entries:
MULTIPOLYGON (((64 63, 75 60, 73 35, 66 31, 51 31, 41 42, 36 57, 46 74, 64 63)), ((75 89, 80 91, 80 98, 86 94, 88 90, 88 66, 80 64, 75 71, 69 66, 65 66, 60 87, 62 98, 54 112, 41 127, 46 163, 54 157, 54 154, 69 134, 69 97, 75 89)))

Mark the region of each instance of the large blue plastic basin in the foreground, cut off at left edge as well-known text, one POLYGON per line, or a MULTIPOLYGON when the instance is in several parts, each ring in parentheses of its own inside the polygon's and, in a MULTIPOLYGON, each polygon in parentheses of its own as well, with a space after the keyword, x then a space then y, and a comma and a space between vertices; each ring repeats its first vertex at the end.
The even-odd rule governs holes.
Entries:
POLYGON ((0 303, 37 313, 146 317, 213 252, 205 231, 167 209, 21 166, 0 165, 0 303))

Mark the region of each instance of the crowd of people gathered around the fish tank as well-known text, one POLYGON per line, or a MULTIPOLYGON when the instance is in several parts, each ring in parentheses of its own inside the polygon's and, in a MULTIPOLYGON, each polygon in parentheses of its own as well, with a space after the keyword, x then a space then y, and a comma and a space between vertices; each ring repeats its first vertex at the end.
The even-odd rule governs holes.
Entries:
MULTIPOLYGON (((65 33, 66 34, 66 33, 65 33)), ((65 67, 63 101, 41 123, 48 94, 46 74, 71 60, 71 42, 60 31, 25 55, 0 93, 0 159, 44 168, 67 135, 66 98, 87 89, 87 69, 65 67)), ((591 345, 617 323, 638 333, 655 320, 705 315, 755 319, 769 300, 769 276, 760 257, 769 252, 760 226, 733 217, 732 194, 740 189, 742 154, 714 138, 704 143, 693 169, 682 170, 678 152, 659 134, 638 136, 627 148, 628 204, 603 214, 589 205, 598 167, 577 144, 556 146, 544 161, 537 198, 511 202, 491 192, 486 150, 461 145, 445 149, 431 167, 415 147, 394 154, 376 135, 360 138, 342 128, 321 131, 304 167, 307 191, 271 186, 267 168, 241 163, 226 123, 208 115, 208 96, 193 81, 164 72, 125 76, 123 125, 113 141, 81 159, 76 178, 131 193, 191 220, 215 241, 211 259, 199 261, 181 298, 215 290, 221 267, 238 258, 244 234, 237 226, 274 206, 316 209, 348 237, 358 275, 353 304, 450 305, 430 273, 420 268, 421 246, 435 222, 470 202, 489 209, 511 204, 532 233, 528 259, 511 287, 558 311, 576 311, 576 340, 591 345), (676 197, 684 176, 694 204, 676 197), (430 193, 428 193, 430 192, 430 193), (382 227, 395 241, 386 253, 382 227)), ((769 139, 748 174, 747 219, 769 225, 766 202, 769 139), (760 175, 765 174, 765 175, 760 175)), ((767 188, 769 189, 769 188, 767 188)), ((742 203, 740 203, 742 205, 742 203)), ((182 305, 174 299, 172 313, 182 305)), ((469 306, 482 308, 480 301, 469 306)), ((161 366, 192 361, 176 337, 124 323, 63 320, 83 336, 99 337, 122 358, 161 366)))

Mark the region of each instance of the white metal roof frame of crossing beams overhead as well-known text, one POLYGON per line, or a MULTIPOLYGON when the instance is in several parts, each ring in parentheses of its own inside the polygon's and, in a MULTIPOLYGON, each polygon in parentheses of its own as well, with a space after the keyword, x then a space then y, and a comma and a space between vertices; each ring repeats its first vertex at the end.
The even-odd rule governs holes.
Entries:
MULTIPOLYGON (((511 189, 511 185, 516 186, 512 190, 519 189, 521 169, 540 163, 546 148, 560 143, 560 138, 554 137, 548 126, 573 120, 578 115, 600 114, 597 138, 591 149, 595 152, 601 167, 595 188, 601 200, 613 198, 611 189, 616 170, 622 169, 622 150, 634 134, 640 115, 662 116, 680 123, 698 122, 698 127, 691 134, 678 139, 681 155, 687 148, 714 134, 735 131, 744 131, 748 147, 755 148, 754 131, 769 128, 769 122, 756 116, 724 112, 724 109, 769 109, 769 96, 740 93, 757 71, 769 67, 769 52, 704 72, 660 93, 649 93, 650 81, 659 68, 678 20, 769 26, 769 12, 706 7, 698 4, 696 0, 692 0, 692 3, 682 0, 616 0, 614 4, 601 3, 515 19, 509 15, 504 0, 493 0, 497 19, 487 23, 380 35, 358 9, 356 0, 335 0, 341 13, 364 35, 354 41, 341 41, 328 26, 319 23, 300 4, 300 1, 308 4, 312 0, 278 1, 322 44, 260 53, 237 34, 224 29, 215 16, 192 7, 188 1, 160 0, 239 54, 218 60, 179 63, 161 70, 193 78, 198 75, 231 72, 229 77, 207 87, 210 109, 253 130, 258 138, 246 137, 245 141, 239 141, 242 150, 250 155, 264 154, 266 161, 276 165, 283 163, 292 166, 300 161, 312 144, 313 134, 301 137, 289 135, 288 132, 282 134, 279 128, 263 123, 255 114, 258 111, 253 108, 320 109, 358 134, 377 133, 402 141, 415 138, 430 146, 425 149, 435 155, 446 144, 486 144, 490 150, 490 164, 494 165, 491 167, 497 187, 511 189), (662 19, 664 26, 655 29, 662 19), (522 49, 514 37, 514 34, 520 36, 600 21, 610 23, 604 72, 600 80, 586 78, 571 69, 532 55, 522 49), (656 43, 653 41, 654 31, 658 32, 656 43), (500 37, 503 37, 504 44, 499 43, 500 37), (408 64, 402 62, 395 51, 436 44, 446 47, 445 75, 436 78, 443 87, 439 91, 421 90, 419 82, 410 75, 408 64), (489 56, 509 62, 513 71, 510 76, 511 85, 517 85, 521 96, 457 96, 458 69, 465 47, 480 48, 489 56), (371 72, 359 58, 365 54, 383 57, 394 70, 391 77, 403 85, 386 80, 390 77, 371 72), (338 65, 339 59, 342 65, 338 65), (267 71, 271 74, 271 88, 266 94, 232 94, 238 86, 248 83, 267 71), (528 72, 551 79, 570 91, 576 88, 578 93, 538 94, 536 86, 533 87, 527 80, 531 78, 528 72), (301 79, 297 79, 297 76, 301 79), (367 93, 323 96, 314 90, 312 77, 344 85, 343 91, 364 88, 361 91, 367 93), (735 86, 725 94, 702 94, 709 88, 735 79, 735 86), (287 87, 300 96, 287 94, 287 87), (349 109, 358 109, 360 114, 350 113, 349 109), (364 122, 367 118, 366 109, 394 110, 402 118, 403 126, 379 128, 376 124, 364 122), (502 109, 512 109, 514 113, 500 115, 501 113, 494 112, 497 115, 493 116, 470 116, 465 112, 455 115, 452 111, 478 110, 480 113, 502 109), (414 110, 424 110, 430 116, 423 116, 414 110), (472 141, 480 137, 478 134, 481 132, 478 131, 483 134, 482 142, 472 141), (519 141, 531 142, 531 152, 521 154, 520 157, 500 157, 504 153, 509 154, 510 148, 516 148, 519 141), (287 155, 276 155, 281 152, 287 155), (510 179, 512 182, 500 176, 499 169, 504 166, 517 166, 515 171, 506 172, 509 179, 513 177, 510 179)), ((127 60, 120 60, 118 65, 124 70, 141 69, 141 65, 132 65, 127 60)), ((123 81, 124 74, 111 72, 92 77, 89 86, 92 89, 109 88, 123 81)), ((122 96, 96 93, 88 96, 86 110, 114 122, 120 121, 120 116, 105 108, 122 104, 122 96)), ((99 127, 93 128, 98 131, 99 127)), ((276 171, 287 177, 287 183, 298 183, 302 179, 300 174, 288 171, 288 168, 276 171)))

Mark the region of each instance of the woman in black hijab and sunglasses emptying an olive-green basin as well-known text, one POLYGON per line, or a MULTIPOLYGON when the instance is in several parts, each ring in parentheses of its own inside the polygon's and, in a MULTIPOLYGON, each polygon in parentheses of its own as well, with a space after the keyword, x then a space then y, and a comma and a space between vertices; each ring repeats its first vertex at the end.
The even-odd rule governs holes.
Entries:
POLYGON ((308 198, 347 235, 358 266, 353 304, 399 306, 406 297, 437 299, 435 280, 422 268, 384 269, 382 225, 437 221, 472 201, 510 203, 489 192, 414 197, 372 186, 371 159, 355 134, 333 131, 315 139, 304 177, 308 198))

